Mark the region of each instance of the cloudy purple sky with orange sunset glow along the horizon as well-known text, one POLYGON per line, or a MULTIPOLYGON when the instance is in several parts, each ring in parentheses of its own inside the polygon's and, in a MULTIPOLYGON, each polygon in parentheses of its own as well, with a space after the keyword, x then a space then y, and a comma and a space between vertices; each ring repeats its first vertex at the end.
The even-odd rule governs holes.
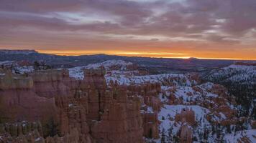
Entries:
POLYGON ((256 59, 256 1, 0 0, 0 49, 256 59))

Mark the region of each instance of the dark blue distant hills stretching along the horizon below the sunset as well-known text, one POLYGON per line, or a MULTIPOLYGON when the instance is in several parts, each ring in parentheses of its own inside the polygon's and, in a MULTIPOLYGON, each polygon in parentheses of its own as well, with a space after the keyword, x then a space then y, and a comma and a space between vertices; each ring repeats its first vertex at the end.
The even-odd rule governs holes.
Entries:
POLYGON ((138 64, 154 74, 170 72, 206 71, 217 69, 234 63, 234 60, 216 59, 166 59, 149 57, 114 56, 107 54, 83 55, 83 56, 58 56, 54 54, 42 54, 35 50, 0 50, 0 61, 45 61, 54 67, 70 68, 74 66, 86 66, 106 60, 124 60, 138 64))

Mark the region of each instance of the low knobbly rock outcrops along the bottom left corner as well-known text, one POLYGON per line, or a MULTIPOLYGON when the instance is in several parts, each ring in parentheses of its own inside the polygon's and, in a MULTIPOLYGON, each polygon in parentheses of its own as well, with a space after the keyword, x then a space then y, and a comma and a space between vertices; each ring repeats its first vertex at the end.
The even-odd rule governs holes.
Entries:
POLYGON ((40 122, 17 122, 11 124, 0 124, 0 142, 9 143, 79 143, 79 132, 76 129, 71 130, 63 137, 58 134, 54 137, 43 136, 43 127, 40 122))

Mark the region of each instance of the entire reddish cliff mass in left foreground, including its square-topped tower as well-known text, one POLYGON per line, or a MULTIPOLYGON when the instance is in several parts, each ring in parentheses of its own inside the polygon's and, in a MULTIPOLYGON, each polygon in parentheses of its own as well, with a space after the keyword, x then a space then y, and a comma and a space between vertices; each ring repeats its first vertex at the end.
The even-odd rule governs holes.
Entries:
POLYGON ((104 70, 84 73, 81 81, 65 70, 1 76, 3 142, 143 142, 140 99, 106 87, 104 70))

